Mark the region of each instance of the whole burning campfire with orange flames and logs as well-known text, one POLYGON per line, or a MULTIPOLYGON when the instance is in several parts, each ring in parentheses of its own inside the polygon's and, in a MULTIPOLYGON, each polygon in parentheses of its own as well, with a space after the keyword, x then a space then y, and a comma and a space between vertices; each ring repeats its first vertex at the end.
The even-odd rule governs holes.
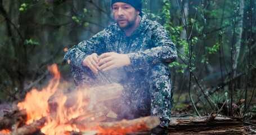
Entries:
POLYGON ((58 89, 60 73, 57 65, 48 70, 54 74, 48 86, 41 91, 32 89, 19 110, 8 111, 0 118, 0 134, 127 134, 150 130, 159 125, 157 116, 148 116, 119 122, 98 122, 93 107, 106 100, 119 98, 123 87, 113 83, 94 88, 80 88, 70 93, 58 89), (92 132, 94 131, 94 132, 92 132))

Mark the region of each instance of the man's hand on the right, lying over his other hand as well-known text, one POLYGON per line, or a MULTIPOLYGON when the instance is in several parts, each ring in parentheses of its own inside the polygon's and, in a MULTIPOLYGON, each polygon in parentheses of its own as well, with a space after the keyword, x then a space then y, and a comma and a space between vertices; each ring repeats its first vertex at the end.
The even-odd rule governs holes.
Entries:
POLYGON ((102 71, 119 68, 125 65, 131 65, 128 55, 115 52, 103 53, 98 57, 98 61, 98 66, 100 66, 98 70, 102 71))

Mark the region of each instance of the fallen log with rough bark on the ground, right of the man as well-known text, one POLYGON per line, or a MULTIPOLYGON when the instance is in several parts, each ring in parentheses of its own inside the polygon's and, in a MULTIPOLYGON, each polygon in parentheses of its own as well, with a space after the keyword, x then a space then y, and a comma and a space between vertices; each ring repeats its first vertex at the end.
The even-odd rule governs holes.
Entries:
POLYGON ((241 118, 186 117, 172 118, 168 134, 245 134, 241 118))

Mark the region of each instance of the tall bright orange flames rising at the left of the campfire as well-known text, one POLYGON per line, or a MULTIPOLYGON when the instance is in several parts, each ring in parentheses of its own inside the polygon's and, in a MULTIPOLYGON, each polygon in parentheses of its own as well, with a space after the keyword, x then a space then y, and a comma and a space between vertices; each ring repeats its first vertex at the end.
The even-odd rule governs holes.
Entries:
POLYGON ((57 91, 60 83, 60 73, 57 70, 57 65, 48 66, 48 70, 55 74, 50 80, 48 87, 42 89, 42 91, 32 89, 32 91, 26 94, 25 101, 19 102, 17 106, 20 110, 26 110, 28 116, 26 124, 31 124, 34 120, 39 120, 46 116, 50 118, 47 119, 47 122, 41 129, 41 132, 44 134, 67 134, 67 131, 79 132, 79 129, 69 122, 71 119, 78 118, 80 114, 86 111, 86 107, 83 106, 88 105, 88 100, 83 100, 83 97, 88 97, 88 95, 84 93, 85 91, 77 91, 77 95, 74 96, 75 101, 70 101, 72 105, 66 107, 65 104, 68 97, 62 92, 57 91), (53 94, 57 96, 53 96, 53 94), (52 114, 50 113, 52 108, 48 105, 50 97, 57 102, 56 112, 52 114))

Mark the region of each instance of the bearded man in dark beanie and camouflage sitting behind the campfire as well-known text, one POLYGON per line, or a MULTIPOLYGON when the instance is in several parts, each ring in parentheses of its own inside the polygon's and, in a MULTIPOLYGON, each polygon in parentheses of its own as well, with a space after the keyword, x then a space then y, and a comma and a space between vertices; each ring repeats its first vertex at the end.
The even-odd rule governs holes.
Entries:
POLYGON ((75 83, 90 87, 120 83, 124 92, 107 105, 118 118, 157 115, 153 134, 167 133, 173 90, 168 64, 177 51, 167 31, 147 19, 141 0, 112 0, 116 24, 66 51, 75 83))

